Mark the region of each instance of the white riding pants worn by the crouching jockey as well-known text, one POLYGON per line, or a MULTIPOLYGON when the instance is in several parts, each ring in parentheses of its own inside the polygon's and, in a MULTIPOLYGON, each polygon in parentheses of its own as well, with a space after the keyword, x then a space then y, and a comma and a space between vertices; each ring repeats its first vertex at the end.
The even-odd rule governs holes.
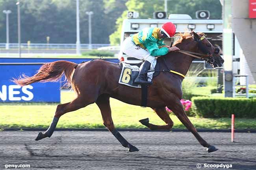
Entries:
POLYGON ((122 51, 130 57, 138 58, 140 60, 147 60, 150 63, 155 60, 155 57, 151 56, 147 50, 141 48, 139 45, 134 44, 132 37, 128 37, 124 40, 122 44, 122 51))

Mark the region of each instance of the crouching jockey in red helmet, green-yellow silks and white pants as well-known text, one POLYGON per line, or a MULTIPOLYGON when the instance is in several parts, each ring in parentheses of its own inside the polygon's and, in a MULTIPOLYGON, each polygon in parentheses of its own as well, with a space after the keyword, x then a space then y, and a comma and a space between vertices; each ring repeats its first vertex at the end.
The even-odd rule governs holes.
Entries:
POLYGON ((134 83, 151 84, 152 82, 147 81, 146 74, 155 57, 166 55, 170 51, 179 50, 176 46, 169 47, 163 43, 164 38, 173 37, 175 32, 176 28, 174 24, 172 22, 166 22, 161 28, 144 28, 124 40, 122 45, 122 51, 124 53, 131 57, 145 60, 134 83))

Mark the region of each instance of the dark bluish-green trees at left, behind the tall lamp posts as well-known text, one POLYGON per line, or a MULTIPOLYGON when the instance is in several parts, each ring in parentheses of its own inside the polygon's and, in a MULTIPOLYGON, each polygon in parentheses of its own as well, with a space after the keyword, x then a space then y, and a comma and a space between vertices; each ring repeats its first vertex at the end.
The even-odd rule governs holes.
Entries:
MULTIPOLYGON (((109 43, 115 21, 126 9, 127 0, 80 0, 80 38, 88 43, 88 15, 93 11, 92 43, 109 43)), ((17 0, 0 0, 0 10, 10 9, 10 42, 17 42, 17 0)), ((20 1, 21 42, 76 43, 76 0, 20 1)), ((6 42, 6 19, 0 15, 0 42, 6 42)))

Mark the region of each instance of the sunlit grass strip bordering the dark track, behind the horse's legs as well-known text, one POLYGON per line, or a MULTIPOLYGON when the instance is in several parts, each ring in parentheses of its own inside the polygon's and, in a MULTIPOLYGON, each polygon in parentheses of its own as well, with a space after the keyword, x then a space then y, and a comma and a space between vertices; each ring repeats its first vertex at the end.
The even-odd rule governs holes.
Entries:
MULTIPOLYGON (((61 91, 61 103, 74 98, 74 92, 61 91)), ((110 100, 112 118, 117 128, 146 128, 140 119, 149 118, 153 124, 165 124, 151 108, 133 106, 116 99, 110 100)), ((56 103, 1 103, 0 129, 4 128, 48 128, 56 110, 56 103)), ((170 115, 173 128, 185 128, 175 115, 170 115)), ((206 119, 189 117, 196 128, 227 129, 230 118, 206 119)), ((57 128, 104 128, 100 110, 91 104, 80 110, 63 115, 57 128)), ((256 129, 256 119, 236 119, 236 129, 256 129)))

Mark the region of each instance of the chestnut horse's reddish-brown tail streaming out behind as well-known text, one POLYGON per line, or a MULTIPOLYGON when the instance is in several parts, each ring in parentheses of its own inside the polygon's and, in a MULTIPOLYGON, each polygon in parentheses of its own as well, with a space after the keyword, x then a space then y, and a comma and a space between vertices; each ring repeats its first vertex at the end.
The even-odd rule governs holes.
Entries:
POLYGON ((13 79, 13 82, 20 86, 25 86, 34 82, 57 82, 63 73, 65 73, 65 79, 68 81, 64 86, 70 87, 72 84, 72 75, 77 66, 78 64, 74 62, 64 60, 49 62, 43 64, 32 77, 23 74, 18 79, 13 79))

